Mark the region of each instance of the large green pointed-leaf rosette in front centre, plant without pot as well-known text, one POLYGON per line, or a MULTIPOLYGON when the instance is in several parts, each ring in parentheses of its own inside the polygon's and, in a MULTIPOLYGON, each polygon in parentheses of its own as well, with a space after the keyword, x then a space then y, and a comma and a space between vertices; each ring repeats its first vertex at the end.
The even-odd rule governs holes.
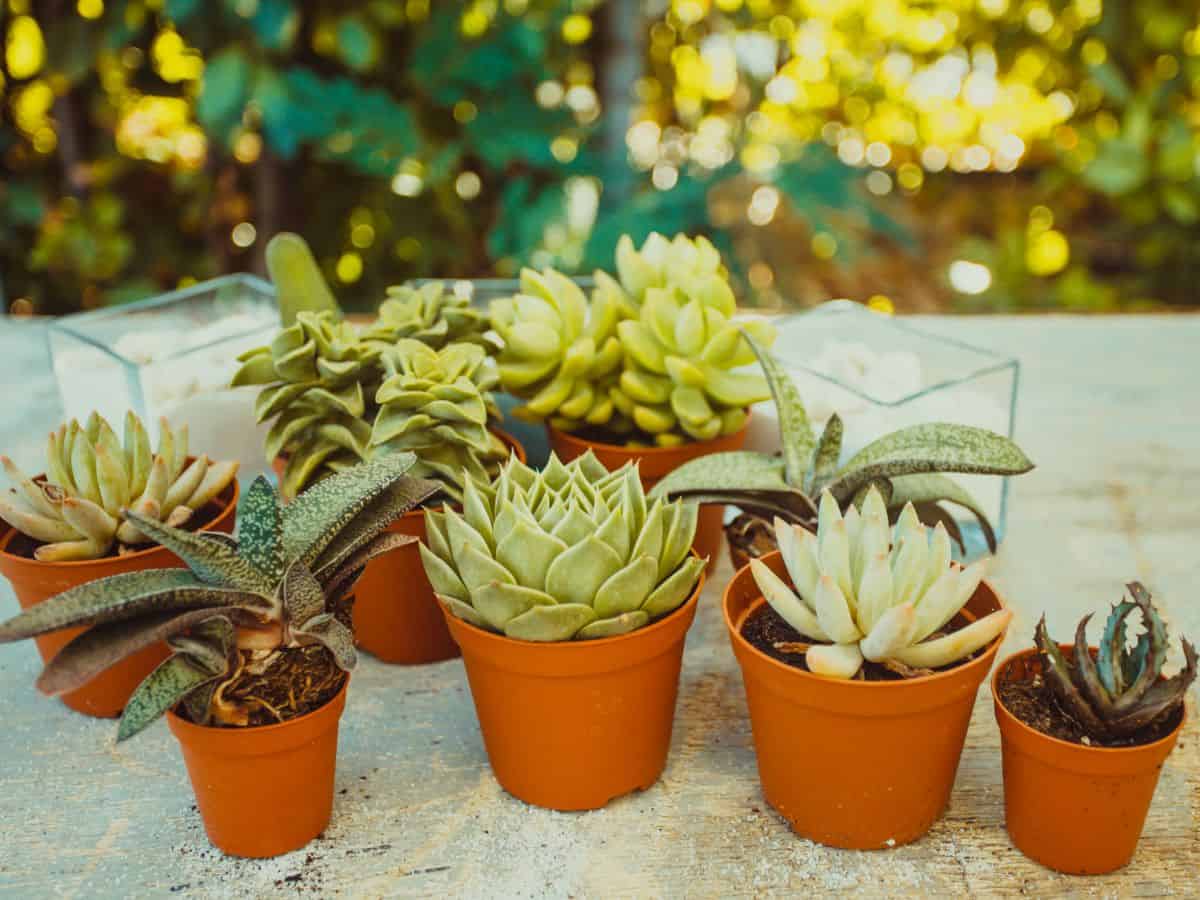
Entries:
POLYGON ((654 503, 635 466, 590 454, 542 472, 510 460, 463 509, 426 510, 421 559, 455 616, 524 641, 612 637, 678 608, 704 560, 690 556, 696 508, 654 503))

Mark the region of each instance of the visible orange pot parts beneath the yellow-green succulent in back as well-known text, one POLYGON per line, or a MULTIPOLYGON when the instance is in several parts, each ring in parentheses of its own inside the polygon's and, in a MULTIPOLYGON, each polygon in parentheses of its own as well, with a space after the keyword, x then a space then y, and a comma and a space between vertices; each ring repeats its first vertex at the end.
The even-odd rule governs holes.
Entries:
MULTIPOLYGON (((749 425, 749 422, 748 422, 749 425)), ((623 446, 620 444, 602 444, 596 440, 587 440, 577 434, 559 431, 546 426, 550 437, 550 449, 557 454, 563 462, 570 462, 576 456, 582 456, 588 450, 595 454, 600 464, 606 469, 619 469, 626 462, 636 462, 638 473, 642 476, 642 486, 649 491, 662 478, 685 462, 708 456, 709 454, 724 454, 730 450, 740 450, 746 440, 746 427, 740 431, 725 434, 712 440, 694 440, 679 446, 623 446)), ((712 572, 720 560, 721 547, 725 540, 725 505, 718 503, 706 503, 700 508, 700 518, 696 522, 696 540, 692 548, 701 557, 708 557, 708 571, 712 572)))

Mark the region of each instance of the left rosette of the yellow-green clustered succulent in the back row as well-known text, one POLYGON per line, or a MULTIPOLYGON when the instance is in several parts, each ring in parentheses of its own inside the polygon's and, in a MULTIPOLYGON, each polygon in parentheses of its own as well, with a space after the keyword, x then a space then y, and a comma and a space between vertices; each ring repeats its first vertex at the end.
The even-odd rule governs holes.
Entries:
POLYGON ((623 361, 620 302, 611 287, 598 288, 588 302, 578 284, 553 269, 522 270, 521 292, 492 301, 492 326, 504 342, 500 383, 524 401, 516 415, 566 431, 631 428, 608 396, 623 361))

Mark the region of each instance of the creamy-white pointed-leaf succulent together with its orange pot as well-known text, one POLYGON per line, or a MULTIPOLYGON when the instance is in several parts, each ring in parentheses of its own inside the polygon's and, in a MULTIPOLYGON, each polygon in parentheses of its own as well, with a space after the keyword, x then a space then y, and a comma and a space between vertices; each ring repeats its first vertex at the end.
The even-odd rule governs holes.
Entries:
POLYGON ((814 535, 775 520, 779 551, 725 592, 763 794, 800 835, 869 850, 917 840, 949 802, 979 685, 1012 613, 984 563, 950 563, 946 527, 878 490, 814 535))

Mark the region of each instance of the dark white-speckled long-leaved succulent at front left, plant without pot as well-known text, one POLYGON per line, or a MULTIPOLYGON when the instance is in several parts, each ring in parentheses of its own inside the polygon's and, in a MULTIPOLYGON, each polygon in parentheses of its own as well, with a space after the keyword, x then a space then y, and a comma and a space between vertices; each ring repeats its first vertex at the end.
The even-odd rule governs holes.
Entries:
POLYGON ((236 539, 130 512, 187 568, 71 588, 0 623, 0 643, 85 626, 38 678, 40 690, 58 695, 167 641, 173 654, 130 697, 118 739, 179 703, 200 725, 245 725, 250 710, 224 696, 245 668, 269 672, 288 650, 311 644, 328 649, 342 670, 354 666, 354 637, 335 610, 371 559, 412 541, 386 528, 437 490, 406 476, 414 462, 397 454, 365 463, 287 505, 259 476, 238 504, 236 539))

